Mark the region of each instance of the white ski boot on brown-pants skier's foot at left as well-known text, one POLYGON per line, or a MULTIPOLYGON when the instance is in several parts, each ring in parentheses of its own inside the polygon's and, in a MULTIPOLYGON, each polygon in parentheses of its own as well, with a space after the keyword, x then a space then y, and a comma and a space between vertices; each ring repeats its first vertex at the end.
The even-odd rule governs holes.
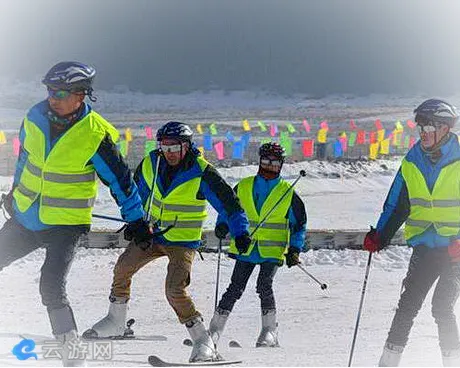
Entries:
POLYGON ((128 302, 126 299, 111 301, 107 315, 83 333, 85 339, 123 337, 126 329, 128 302))

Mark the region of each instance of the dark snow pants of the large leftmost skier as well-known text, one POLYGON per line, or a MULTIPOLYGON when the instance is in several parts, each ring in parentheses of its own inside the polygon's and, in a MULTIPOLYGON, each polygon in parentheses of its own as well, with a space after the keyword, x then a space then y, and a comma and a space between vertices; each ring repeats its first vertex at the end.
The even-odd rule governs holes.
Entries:
POLYGON ((14 219, 8 220, 0 229, 0 271, 40 247, 46 249, 41 268, 40 295, 55 335, 77 329, 67 299, 66 282, 77 241, 87 231, 87 226, 58 226, 31 231, 14 219))

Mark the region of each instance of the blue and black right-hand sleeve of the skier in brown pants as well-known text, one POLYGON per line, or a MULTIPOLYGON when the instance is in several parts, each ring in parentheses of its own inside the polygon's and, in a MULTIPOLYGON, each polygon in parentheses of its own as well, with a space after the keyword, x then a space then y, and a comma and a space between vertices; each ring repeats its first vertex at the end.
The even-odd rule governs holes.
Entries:
POLYGON ((219 213, 218 223, 224 220, 227 222, 232 237, 249 233, 249 221, 240 200, 211 165, 203 173, 200 192, 219 213))

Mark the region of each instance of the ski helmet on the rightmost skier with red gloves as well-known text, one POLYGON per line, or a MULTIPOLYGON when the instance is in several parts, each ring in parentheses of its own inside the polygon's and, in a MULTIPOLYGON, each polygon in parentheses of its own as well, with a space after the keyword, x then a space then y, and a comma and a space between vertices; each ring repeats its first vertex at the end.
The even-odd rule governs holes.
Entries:
POLYGON ((459 118, 455 106, 438 99, 424 101, 414 110, 415 122, 419 124, 441 123, 451 128, 459 118))

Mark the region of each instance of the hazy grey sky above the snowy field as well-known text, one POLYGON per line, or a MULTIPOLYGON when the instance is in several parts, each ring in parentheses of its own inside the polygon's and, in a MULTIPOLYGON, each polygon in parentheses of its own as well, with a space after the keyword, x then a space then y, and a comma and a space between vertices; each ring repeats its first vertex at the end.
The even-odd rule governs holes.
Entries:
POLYGON ((0 0, 0 77, 61 60, 97 87, 453 93, 457 0, 0 0))

